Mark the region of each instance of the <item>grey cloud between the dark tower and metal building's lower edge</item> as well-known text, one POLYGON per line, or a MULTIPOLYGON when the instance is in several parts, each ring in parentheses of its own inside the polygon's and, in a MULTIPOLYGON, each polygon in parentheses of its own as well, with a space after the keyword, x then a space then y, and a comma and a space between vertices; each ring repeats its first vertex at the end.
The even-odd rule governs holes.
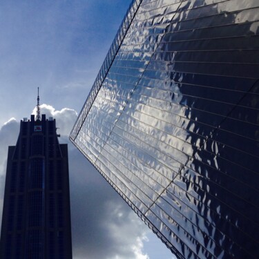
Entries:
POLYGON ((84 156, 69 146, 76 258, 148 258, 141 253, 147 227, 84 156))

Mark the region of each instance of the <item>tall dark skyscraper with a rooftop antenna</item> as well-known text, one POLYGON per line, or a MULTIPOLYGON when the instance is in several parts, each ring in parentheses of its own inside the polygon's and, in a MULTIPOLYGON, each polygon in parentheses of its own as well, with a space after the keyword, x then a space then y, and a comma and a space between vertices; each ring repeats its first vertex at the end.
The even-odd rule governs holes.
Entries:
POLYGON ((1 228, 1 259, 71 259, 68 147, 55 119, 23 119, 9 146, 1 228))

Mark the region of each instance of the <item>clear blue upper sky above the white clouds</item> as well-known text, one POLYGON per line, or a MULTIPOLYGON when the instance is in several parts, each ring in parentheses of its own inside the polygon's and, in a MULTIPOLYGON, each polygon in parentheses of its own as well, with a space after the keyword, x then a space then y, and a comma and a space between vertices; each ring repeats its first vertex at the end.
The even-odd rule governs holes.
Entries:
MULTIPOLYGON (((0 84, 9 89, 0 97, 1 111, 17 102, 28 111, 24 98, 32 107, 37 86, 44 102, 78 111, 129 3, 1 1, 0 84), (17 90, 26 95, 13 98, 17 90)), ((10 110, 0 122, 8 117, 10 110)))

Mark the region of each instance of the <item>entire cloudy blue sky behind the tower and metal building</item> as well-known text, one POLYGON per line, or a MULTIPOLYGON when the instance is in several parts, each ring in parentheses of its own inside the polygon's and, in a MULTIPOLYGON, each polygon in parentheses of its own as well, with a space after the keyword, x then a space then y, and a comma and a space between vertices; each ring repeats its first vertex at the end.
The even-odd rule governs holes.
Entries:
POLYGON ((74 259, 172 259, 68 140, 131 0, 0 1, 0 219, 8 146, 35 113, 68 143, 74 259))

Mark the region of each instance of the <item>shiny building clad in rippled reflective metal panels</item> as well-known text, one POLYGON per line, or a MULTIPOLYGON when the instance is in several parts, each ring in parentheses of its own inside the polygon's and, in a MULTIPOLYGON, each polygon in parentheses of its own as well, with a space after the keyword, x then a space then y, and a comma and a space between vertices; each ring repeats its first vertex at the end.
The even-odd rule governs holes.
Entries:
POLYGON ((133 1, 70 140, 179 258, 259 254, 259 2, 133 1))

